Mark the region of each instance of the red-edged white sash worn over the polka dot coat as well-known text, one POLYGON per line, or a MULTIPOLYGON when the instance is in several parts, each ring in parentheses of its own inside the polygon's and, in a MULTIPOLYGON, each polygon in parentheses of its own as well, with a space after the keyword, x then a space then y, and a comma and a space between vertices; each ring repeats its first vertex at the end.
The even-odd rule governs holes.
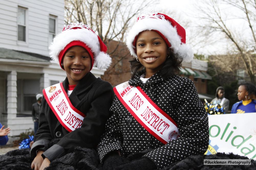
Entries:
POLYGON ((139 86, 124 82, 114 92, 132 116, 155 138, 166 144, 180 133, 176 122, 160 109, 139 86))

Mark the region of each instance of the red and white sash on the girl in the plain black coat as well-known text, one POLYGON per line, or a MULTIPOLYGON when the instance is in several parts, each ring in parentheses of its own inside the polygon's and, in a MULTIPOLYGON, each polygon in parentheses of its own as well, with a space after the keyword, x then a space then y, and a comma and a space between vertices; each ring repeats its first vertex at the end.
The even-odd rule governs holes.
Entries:
POLYGON ((62 83, 45 88, 43 94, 51 110, 66 130, 71 132, 81 127, 85 115, 71 104, 62 83))

